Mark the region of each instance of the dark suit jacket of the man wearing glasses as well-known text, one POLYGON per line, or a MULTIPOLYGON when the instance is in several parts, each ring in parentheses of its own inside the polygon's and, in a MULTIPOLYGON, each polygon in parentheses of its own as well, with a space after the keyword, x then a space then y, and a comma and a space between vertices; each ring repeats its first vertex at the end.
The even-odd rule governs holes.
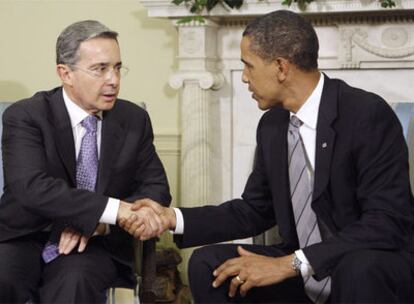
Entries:
MULTIPOLYGON (((76 189, 72 127, 62 88, 39 92, 3 115, 5 186, 0 202, 0 242, 42 231, 50 224, 91 235, 108 197, 171 201, 164 168, 155 152, 147 112, 118 99, 103 113, 96 193, 76 189)), ((132 264, 132 242, 111 226, 105 246, 132 264)))

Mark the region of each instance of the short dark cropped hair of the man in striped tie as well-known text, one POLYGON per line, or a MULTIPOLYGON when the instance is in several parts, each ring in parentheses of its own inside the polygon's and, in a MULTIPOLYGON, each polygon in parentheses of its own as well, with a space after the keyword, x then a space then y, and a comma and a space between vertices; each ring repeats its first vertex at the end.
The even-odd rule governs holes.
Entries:
POLYGON ((252 20, 243 32, 250 49, 266 61, 277 57, 303 70, 318 68, 319 42, 310 22, 287 10, 279 10, 252 20))

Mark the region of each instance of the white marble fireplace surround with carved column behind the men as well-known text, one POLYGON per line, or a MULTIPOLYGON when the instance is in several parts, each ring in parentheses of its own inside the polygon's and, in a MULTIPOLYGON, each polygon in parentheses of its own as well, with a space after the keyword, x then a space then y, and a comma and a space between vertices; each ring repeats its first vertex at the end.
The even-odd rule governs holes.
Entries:
MULTIPOLYGON (((240 197, 253 161, 255 129, 263 114, 241 82, 239 42, 247 21, 280 0, 245 0, 240 10, 217 6, 205 23, 178 24, 187 9, 170 0, 139 0, 154 18, 178 30, 181 90, 183 207, 240 197)), ((317 0, 304 13, 320 40, 319 66, 330 77, 374 91, 388 102, 414 102, 414 0, 383 9, 378 1, 317 0)), ((299 12, 297 7, 290 8, 299 12)))

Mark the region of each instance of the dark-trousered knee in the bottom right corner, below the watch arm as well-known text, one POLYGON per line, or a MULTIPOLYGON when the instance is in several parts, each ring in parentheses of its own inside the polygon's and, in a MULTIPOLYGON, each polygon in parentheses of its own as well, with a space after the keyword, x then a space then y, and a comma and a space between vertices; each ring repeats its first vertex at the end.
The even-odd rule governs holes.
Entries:
POLYGON ((413 273, 399 252, 360 250, 345 255, 332 273, 332 302, 406 302, 413 273))

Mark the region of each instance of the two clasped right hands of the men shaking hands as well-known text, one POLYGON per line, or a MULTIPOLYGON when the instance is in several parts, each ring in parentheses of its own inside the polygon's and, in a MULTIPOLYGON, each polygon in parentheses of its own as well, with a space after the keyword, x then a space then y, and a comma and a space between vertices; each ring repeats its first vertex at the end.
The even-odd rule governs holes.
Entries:
POLYGON ((134 203, 121 201, 117 216, 118 225, 141 241, 159 237, 167 229, 175 229, 176 218, 172 208, 164 207, 145 198, 134 203))

